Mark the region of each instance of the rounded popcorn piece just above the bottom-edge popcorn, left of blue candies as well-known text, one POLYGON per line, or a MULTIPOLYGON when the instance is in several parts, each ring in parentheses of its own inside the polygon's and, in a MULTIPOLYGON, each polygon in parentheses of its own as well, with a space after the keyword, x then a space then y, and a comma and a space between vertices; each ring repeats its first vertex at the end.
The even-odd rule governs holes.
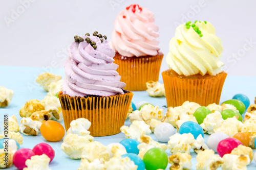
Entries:
POLYGON ((90 142, 82 150, 83 159, 87 159, 89 162, 93 162, 94 159, 99 159, 101 162, 109 160, 109 153, 106 151, 106 147, 98 141, 90 142))

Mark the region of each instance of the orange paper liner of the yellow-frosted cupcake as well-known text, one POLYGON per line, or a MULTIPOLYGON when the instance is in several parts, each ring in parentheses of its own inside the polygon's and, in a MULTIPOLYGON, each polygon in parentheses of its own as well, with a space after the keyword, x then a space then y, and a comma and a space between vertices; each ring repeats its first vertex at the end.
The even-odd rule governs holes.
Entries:
POLYGON ((219 104, 222 87, 227 74, 222 71, 216 76, 179 76, 175 71, 162 72, 168 107, 181 106, 185 101, 201 106, 219 104))

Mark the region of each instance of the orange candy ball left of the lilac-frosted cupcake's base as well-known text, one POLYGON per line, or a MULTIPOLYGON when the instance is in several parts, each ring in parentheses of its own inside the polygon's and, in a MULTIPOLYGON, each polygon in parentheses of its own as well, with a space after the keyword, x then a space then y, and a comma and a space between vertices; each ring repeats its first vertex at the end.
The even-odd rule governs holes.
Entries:
POLYGON ((65 129, 63 126, 54 120, 47 120, 42 123, 40 132, 42 137, 53 142, 61 140, 65 135, 65 129))

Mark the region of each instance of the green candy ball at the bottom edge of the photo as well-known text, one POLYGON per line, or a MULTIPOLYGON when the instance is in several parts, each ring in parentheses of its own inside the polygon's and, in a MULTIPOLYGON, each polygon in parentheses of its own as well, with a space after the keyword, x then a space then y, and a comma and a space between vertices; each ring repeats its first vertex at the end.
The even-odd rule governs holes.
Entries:
POLYGON ((152 148, 143 156, 146 170, 165 169, 168 164, 168 156, 161 148, 152 148))

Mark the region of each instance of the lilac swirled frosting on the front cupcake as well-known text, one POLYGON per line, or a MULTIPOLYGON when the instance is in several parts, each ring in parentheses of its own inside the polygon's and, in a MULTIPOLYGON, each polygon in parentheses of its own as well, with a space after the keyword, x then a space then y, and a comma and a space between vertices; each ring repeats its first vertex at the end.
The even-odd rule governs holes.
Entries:
POLYGON ((94 50, 85 40, 71 44, 65 64, 63 94, 81 97, 123 94, 125 83, 120 82, 121 77, 116 71, 118 65, 113 63, 115 52, 110 48, 109 42, 103 38, 101 43, 98 37, 92 35, 82 38, 86 37, 95 41, 97 48, 94 50))

